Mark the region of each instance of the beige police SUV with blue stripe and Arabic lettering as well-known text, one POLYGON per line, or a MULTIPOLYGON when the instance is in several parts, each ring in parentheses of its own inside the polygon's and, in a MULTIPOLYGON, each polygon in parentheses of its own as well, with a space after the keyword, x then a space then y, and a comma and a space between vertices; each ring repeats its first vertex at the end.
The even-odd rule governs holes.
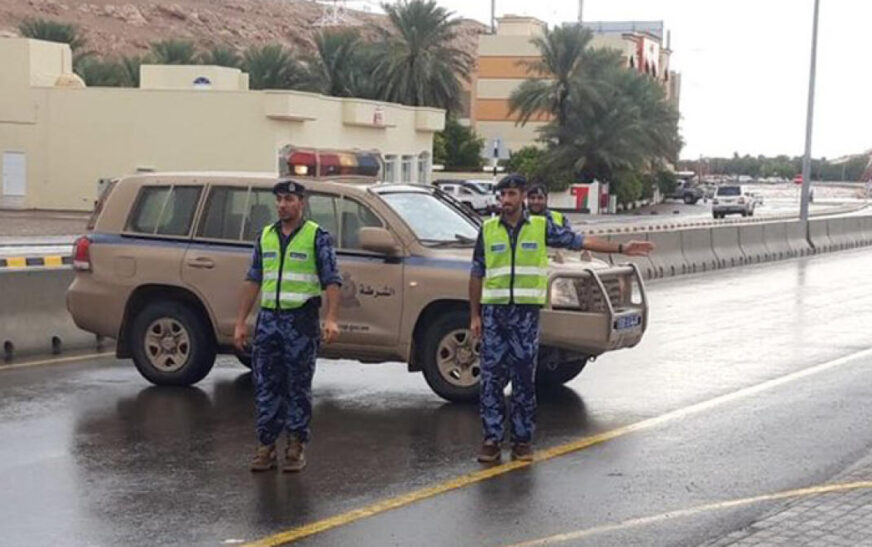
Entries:
MULTIPOLYGON (((205 377, 217 353, 233 352, 252 245, 276 220, 274 182, 258 173, 115 182, 76 242, 67 294, 76 324, 115 338, 118 356, 133 358, 155 384, 205 377)), ((404 361, 445 399, 474 399, 479 345, 467 330, 467 284, 479 218, 435 187, 306 185, 306 216, 333 235, 343 277, 341 333, 322 355, 404 361)), ((590 359, 636 345, 647 326, 642 279, 631 265, 555 255, 548 295, 541 382, 567 382, 590 359)))

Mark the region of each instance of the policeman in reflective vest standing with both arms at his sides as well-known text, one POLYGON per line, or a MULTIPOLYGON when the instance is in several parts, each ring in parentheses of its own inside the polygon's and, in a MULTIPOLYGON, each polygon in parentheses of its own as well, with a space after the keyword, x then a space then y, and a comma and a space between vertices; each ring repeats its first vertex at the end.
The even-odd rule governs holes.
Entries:
POLYGON ((287 430, 282 470, 301 471, 306 466, 303 448, 309 441, 315 358, 322 339, 329 344, 339 335, 342 278, 330 234, 303 218, 303 185, 280 180, 273 193, 279 221, 266 226, 255 245, 233 341, 242 351, 248 340, 246 318, 259 292, 251 367, 259 446, 251 470, 276 467, 275 443, 287 430), (322 289, 327 296, 323 333, 318 324, 322 289))

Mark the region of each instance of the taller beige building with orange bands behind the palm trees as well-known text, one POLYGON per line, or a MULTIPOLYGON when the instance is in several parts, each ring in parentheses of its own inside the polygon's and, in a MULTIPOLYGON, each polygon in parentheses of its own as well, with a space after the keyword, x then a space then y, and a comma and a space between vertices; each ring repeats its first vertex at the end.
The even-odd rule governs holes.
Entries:
MULTIPOLYGON (((584 24, 594 32, 592 47, 617 49, 626 66, 650 75, 663 86, 669 100, 678 105, 680 75, 669 68, 671 50, 662 40, 662 22, 615 22, 584 24), (657 33, 659 29, 659 34, 657 33)), ((507 15, 497 19, 495 34, 482 34, 478 45, 478 71, 473 75, 469 107, 469 124, 484 137, 483 154, 493 157, 498 147, 500 157, 522 146, 534 144, 537 130, 548 116, 532 118, 517 125, 517 115, 509 116, 512 91, 530 77, 525 63, 539 59, 539 50, 531 43, 545 33, 547 24, 535 17, 507 15)))

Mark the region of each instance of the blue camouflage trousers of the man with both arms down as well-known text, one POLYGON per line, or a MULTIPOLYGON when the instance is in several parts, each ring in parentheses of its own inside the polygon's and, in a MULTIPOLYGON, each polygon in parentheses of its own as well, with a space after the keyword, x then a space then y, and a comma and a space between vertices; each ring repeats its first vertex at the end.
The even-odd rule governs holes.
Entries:
POLYGON ((272 444, 282 430, 309 440, 312 377, 320 345, 318 308, 261 310, 251 368, 257 406, 257 438, 272 444))

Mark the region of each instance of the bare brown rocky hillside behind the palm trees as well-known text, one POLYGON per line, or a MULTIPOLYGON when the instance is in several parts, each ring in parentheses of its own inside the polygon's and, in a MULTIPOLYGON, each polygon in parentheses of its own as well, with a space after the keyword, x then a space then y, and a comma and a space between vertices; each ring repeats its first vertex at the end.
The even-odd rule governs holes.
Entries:
MULTIPOLYGON (((17 36, 18 24, 40 17, 78 25, 86 50, 104 56, 145 53, 154 41, 191 40, 202 49, 283 43, 309 51, 329 8, 312 0, 0 0, 0 36, 17 36)), ((384 24, 375 13, 347 10, 342 26, 363 33, 384 24)), ((485 26, 463 20, 456 45, 471 54, 485 26)))

